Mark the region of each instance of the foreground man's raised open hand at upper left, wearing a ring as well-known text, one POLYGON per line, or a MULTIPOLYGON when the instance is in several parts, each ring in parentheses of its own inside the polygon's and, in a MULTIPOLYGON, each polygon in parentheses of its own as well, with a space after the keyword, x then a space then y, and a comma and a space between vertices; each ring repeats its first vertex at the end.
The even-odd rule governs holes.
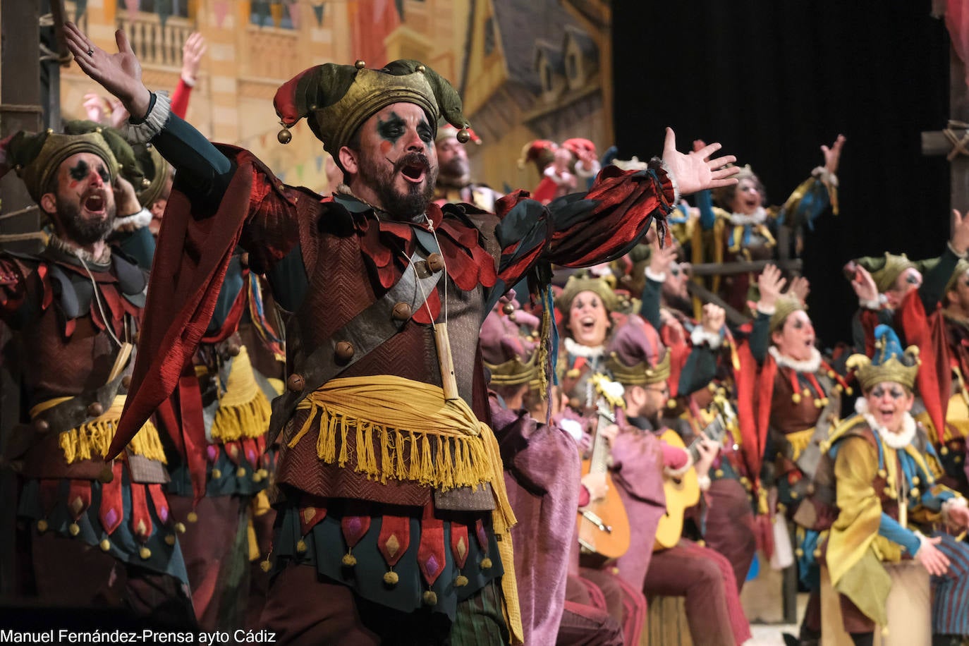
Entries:
POLYGON ((124 32, 114 32, 118 47, 115 54, 91 43, 73 22, 65 23, 64 36, 81 71, 120 99, 132 115, 144 117, 151 105, 151 93, 141 82, 141 63, 124 32))

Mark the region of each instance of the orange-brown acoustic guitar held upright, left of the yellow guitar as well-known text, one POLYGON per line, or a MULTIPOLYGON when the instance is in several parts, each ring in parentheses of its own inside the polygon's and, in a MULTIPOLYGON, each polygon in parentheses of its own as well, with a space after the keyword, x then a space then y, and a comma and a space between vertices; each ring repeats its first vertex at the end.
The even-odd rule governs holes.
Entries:
POLYGON ((605 396, 597 402, 599 425, 592 437, 592 453, 582 461, 582 476, 586 474, 606 475, 606 496, 592 499, 578 511, 578 544, 584 554, 593 554, 603 559, 617 559, 629 549, 629 519, 626 508, 619 498, 618 489, 612 484, 609 475, 610 447, 598 429, 615 423, 615 415, 605 396))

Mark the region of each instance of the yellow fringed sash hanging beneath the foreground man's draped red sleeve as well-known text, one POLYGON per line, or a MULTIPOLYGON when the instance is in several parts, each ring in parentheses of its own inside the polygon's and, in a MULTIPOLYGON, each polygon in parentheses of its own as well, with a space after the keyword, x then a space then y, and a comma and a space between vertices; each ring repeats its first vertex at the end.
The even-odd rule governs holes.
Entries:
POLYGON ((226 392, 219 397, 219 408, 212 422, 213 439, 233 442, 266 434, 272 409, 252 370, 249 353, 242 346, 229 369, 226 392))

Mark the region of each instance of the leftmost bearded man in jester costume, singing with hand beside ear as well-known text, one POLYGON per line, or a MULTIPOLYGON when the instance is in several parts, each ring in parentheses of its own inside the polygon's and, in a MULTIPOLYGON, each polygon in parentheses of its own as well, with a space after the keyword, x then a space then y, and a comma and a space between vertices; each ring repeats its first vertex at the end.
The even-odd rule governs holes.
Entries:
POLYGON ((0 142, 0 176, 16 169, 54 231, 36 256, 0 253, 0 317, 29 357, 21 366, 29 423, 8 429, 3 455, 21 477, 17 552, 30 555, 17 588, 54 607, 108 606, 191 626, 158 431, 142 420, 123 454, 107 454, 147 284, 106 241, 116 220, 142 210, 118 159, 137 180, 130 147, 107 128, 0 142))

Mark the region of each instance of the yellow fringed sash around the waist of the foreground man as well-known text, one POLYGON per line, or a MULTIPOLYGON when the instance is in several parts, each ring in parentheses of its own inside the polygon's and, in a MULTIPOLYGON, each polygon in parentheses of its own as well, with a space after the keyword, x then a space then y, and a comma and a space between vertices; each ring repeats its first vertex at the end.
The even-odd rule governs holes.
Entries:
POLYGON ((441 386, 392 375, 333 379, 307 395, 297 410, 309 411, 288 446, 314 426, 319 429, 317 455, 327 464, 347 467, 367 478, 410 480, 441 491, 491 485, 495 497, 492 524, 505 574, 506 619, 521 641, 521 613, 515 582, 512 526, 505 477, 491 429, 463 399, 445 400, 441 386), (347 434, 356 434, 351 455, 347 434), (339 437, 339 446, 337 446, 339 437), (409 445, 409 449, 408 449, 409 445))

